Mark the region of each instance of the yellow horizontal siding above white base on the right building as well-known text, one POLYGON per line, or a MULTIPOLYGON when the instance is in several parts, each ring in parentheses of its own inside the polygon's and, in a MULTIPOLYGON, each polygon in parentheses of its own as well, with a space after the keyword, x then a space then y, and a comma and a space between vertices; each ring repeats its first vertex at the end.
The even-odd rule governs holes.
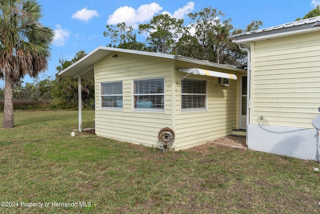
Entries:
POLYGON ((251 44, 250 123, 312 128, 320 106, 320 32, 251 44))

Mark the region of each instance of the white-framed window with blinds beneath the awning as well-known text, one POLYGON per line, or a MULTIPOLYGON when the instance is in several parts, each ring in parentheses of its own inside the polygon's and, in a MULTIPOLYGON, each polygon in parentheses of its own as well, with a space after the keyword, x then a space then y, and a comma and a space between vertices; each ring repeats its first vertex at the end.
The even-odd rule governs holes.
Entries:
POLYGON ((181 80, 182 110, 205 110, 206 96, 206 80, 188 78, 181 80))

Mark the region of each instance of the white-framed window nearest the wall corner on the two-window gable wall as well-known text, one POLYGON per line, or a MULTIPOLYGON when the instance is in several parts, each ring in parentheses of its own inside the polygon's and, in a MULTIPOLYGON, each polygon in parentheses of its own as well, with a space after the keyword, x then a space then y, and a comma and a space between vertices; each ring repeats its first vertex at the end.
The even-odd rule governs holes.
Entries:
POLYGON ((133 109, 164 110, 164 78, 133 80, 133 109))

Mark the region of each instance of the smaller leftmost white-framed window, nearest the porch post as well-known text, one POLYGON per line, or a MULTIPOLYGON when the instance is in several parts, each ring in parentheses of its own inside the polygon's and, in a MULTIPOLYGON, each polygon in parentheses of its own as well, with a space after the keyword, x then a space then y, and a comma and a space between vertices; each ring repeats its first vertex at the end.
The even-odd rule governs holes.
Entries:
POLYGON ((101 83, 101 108, 122 109, 122 81, 101 83))

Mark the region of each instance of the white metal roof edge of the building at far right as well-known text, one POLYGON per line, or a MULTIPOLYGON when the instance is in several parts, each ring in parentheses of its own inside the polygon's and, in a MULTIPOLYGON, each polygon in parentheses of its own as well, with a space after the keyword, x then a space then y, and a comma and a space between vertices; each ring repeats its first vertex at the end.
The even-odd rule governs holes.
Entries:
POLYGON ((251 41, 320 30, 320 16, 232 35, 233 42, 249 46, 251 41))

